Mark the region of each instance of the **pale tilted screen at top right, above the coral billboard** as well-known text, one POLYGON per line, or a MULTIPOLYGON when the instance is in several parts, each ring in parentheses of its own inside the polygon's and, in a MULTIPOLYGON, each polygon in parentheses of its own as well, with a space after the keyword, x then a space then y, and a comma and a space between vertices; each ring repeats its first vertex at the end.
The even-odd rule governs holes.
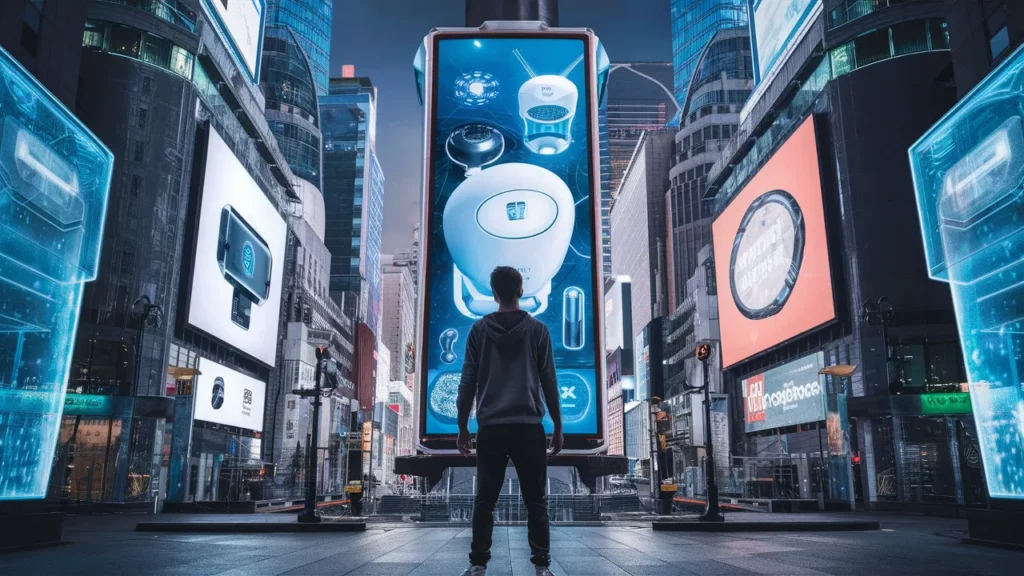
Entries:
POLYGON ((757 81, 766 78, 785 49, 799 42, 821 0, 750 0, 757 81))

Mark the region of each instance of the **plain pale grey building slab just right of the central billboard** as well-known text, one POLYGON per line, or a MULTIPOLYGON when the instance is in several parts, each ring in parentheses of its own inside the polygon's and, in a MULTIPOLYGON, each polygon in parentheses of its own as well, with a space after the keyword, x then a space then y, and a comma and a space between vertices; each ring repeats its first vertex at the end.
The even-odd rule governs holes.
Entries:
POLYGON ((674 134, 645 132, 611 206, 611 271, 631 280, 633 333, 668 313, 665 293, 665 193, 674 134))

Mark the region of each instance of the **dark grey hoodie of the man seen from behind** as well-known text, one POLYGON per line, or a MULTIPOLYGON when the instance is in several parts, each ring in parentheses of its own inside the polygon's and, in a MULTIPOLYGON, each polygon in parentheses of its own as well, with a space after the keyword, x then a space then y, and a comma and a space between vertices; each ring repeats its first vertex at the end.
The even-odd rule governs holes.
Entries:
POLYGON ((473 400, 481 426, 539 424, 545 404, 558 405, 551 334, 544 323, 522 311, 496 312, 476 321, 466 339, 459 384, 461 422, 473 400))

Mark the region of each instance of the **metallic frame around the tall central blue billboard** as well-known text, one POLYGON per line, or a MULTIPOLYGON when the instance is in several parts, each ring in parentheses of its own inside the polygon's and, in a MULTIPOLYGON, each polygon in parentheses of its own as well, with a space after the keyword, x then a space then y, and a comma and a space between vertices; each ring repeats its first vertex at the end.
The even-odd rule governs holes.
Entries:
MULTIPOLYGON (((522 22, 486 22, 479 28, 435 28, 423 39, 421 45, 422 61, 417 55, 417 66, 422 65, 422 100, 424 104, 423 129, 423 197, 421 202, 420 228, 428 231, 427 222, 433 208, 433 198, 430 194, 433 177, 433 158, 431 148, 436 130, 436 118, 431 115, 431 105, 437 100, 436 56, 441 40, 466 38, 503 38, 503 39, 569 39, 584 42, 584 66, 587 88, 587 156, 590 163, 589 188, 591 204, 591 246, 601 245, 601 210, 600 210, 600 178, 594 177, 600 173, 600 151, 597 146, 600 71, 599 40, 594 31, 589 28, 548 28, 541 23, 522 22)), ((426 341, 426 318, 430 299, 430 285, 427 281, 429 266, 429 234, 423 234, 419 253, 419 285, 421 294, 417 305, 417 342, 416 366, 418 375, 415 394, 420 401, 416 410, 416 448, 427 454, 458 454, 456 436, 426 434, 426 393, 427 393, 427 355, 423 343, 426 341)), ((604 354, 604 275, 599 259, 591 261, 593 285, 591 289, 590 306, 594 318, 594 375, 595 375, 595 409, 597 410, 597 435, 564 435, 563 454, 597 454, 607 447, 608 415, 605 406, 605 354, 604 354)))

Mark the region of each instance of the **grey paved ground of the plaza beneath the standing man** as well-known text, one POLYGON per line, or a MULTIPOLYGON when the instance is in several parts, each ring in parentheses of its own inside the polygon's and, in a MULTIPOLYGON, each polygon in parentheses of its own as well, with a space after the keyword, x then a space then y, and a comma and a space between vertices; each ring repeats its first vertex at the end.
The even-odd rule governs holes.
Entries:
MULTIPOLYGON (((866 515, 857 515, 865 518, 866 515)), ((874 515, 881 532, 670 534, 649 525, 555 527, 560 575, 1015 574, 1024 552, 962 543, 963 521, 874 515)), ((466 527, 371 524, 356 534, 153 535, 145 516, 69 517, 66 544, 0 557, 2 574, 458 576, 466 527)), ((532 574, 525 527, 495 529, 488 574, 532 574)))

